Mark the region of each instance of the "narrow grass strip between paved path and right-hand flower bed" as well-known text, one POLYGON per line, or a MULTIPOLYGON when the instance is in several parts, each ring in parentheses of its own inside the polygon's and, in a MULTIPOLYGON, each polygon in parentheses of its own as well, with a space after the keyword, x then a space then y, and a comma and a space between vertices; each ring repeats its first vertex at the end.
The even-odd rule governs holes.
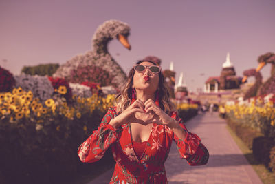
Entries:
POLYGON ((241 139, 236 136, 236 134, 233 132, 233 130, 227 125, 226 128, 228 129, 228 132, 231 134, 232 138, 236 142, 236 144, 239 146, 240 150, 243 152, 243 155, 248 160, 248 163, 252 165, 255 172, 258 174, 259 178, 261 178, 261 181, 264 184, 273 184, 275 183, 275 174, 270 172, 265 165, 259 163, 257 161, 252 153, 252 150, 250 150, 241 139))

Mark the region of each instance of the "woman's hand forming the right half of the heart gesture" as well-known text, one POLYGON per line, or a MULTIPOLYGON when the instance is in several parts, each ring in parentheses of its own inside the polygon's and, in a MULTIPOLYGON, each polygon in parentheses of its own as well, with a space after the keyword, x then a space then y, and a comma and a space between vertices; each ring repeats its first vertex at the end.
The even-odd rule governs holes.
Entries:
POLYGON ((148 99, 144 103, 145 105, 145 113, 149 113, 150 111, 153 112, 154 117, 152 119, 152 123, 157 123, 159 125, 166 125, 168 127, 175 127, 178 123, 175 119, 171 118, 168 114, 166 114, 159 106, 155 104, 152 99, 148 99))

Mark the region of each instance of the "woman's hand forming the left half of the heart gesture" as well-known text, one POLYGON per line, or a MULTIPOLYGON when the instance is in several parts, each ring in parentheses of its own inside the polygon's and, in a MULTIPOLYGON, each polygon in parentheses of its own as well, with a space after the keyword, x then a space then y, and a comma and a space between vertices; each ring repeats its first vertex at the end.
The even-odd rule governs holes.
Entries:
POLYGON ((134 101, 126 110, 124 110, 121 114, 116 116, 114 119, 111 119, 110 125, 115 128, 120 127, 120 125, 125 123, 133 123, 135 120, 134 114, 135 112, 144 112, 144 103, 137 99, 134 101))

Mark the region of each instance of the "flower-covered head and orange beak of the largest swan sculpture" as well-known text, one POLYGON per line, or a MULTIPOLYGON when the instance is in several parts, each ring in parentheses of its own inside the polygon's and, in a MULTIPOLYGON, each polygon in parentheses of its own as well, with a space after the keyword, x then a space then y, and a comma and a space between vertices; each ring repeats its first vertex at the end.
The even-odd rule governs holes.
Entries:
POLYGON ((118 20, 105 21, 96 30, 93 42, 94 44, 106 44, 111 39, 118 39, 125 48, 131 50, 131 45, 128 42, 130 34, 130 26, 127 23, 118 20))

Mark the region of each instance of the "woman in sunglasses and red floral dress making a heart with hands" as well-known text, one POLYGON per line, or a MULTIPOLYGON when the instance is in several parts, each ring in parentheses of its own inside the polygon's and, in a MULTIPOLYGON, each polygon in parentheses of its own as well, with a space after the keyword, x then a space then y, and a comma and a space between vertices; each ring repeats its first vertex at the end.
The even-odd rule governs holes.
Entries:
POLYGON ((80 160, 92 163, 111 147, 116 165, 110 183, 167 183, 164 162, 172 140, 189 165, 208 162, 208 150, 175 112, 153 61, 137 62, 116 103, 78 148, 80 160))

